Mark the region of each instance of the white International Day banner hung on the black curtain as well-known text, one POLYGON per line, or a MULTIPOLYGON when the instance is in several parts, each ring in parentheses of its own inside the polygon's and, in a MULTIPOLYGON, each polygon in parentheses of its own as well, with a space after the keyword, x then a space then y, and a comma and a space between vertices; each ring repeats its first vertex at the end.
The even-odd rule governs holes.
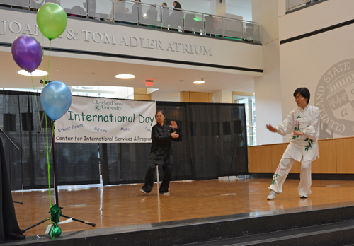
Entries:
POLYGON ((72 97, 55 122, 57 143, 151 143, 156 103, 113 98, 72 97))

